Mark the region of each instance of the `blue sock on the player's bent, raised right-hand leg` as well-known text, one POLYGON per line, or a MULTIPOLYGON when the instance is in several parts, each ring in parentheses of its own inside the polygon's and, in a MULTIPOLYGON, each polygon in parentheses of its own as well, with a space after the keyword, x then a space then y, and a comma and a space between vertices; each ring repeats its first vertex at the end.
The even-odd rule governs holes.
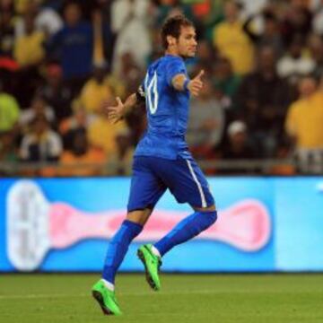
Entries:
POLYGON ((196 212, 189 215, 173 228, 162 240, 154 244, 161 256, 179 243, 194 238, 197 234, 205 231, 216 221, 216 211, 196 212))

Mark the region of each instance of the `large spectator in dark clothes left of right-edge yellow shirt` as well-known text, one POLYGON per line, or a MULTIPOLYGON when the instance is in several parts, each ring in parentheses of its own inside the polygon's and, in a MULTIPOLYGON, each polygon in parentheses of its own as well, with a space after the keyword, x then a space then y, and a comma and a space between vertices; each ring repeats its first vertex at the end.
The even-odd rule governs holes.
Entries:
POLYGON ((275 72, 273 48, 261 48, 255 73, 245 77, 235 104, 240 118, 247 124, 250 135, 265 157, 273 157, 284 128, 291 90, 275 72))

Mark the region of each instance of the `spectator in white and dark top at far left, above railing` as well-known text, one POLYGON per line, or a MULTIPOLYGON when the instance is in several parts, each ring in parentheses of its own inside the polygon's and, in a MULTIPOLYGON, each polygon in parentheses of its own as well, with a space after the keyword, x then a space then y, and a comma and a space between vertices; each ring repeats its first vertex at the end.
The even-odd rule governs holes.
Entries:
POLYGON ((24 162, 57 162, 62 153, 60 136, 50 129, 45 116, 32 120, 31 132, 22 137, 20 156, 24 162))

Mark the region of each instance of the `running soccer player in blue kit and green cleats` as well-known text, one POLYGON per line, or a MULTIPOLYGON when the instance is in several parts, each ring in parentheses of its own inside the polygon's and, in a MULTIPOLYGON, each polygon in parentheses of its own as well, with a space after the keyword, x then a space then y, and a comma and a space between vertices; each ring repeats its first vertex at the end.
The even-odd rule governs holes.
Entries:
POLYGON ((161 288, 162 256, 205 231, 217 217, 205 176, 185 142, 189 97, 200 92, 204 74, 201 71, 190 80, 184 65, 186 58, 196 54, 196 31, 192 22, 182 15, 169 18, 162 27, 162 44, 165 55, 149 66, 138 91, 125 103, 117 98, 118 104, 107 108, 109 118, 118 122, 139 100, 144 100, 148 126, 135 150, 127 219, 110 241, 102 278, 92 287, 92 294, 105 314, 121 314, 114 292, 115 275, 130 242, 143 230, 154 205, 167 188, 179 203, 191 205, 194 213, 154 245, 146 244, 138 249, 146 280, 153 290, 161 288))

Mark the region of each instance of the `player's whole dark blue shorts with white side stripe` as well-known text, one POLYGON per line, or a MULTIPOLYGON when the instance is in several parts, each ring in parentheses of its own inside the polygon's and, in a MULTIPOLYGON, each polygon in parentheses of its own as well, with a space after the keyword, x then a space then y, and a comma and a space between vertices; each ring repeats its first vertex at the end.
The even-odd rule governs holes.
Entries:
POLYGON ((167 188, 179 203, 188 203, 193 207, 214 205, 214 197, 205 175, 193 158, 172 161, 152 156, 136 156, 128 212, 153 209, 167 188))

